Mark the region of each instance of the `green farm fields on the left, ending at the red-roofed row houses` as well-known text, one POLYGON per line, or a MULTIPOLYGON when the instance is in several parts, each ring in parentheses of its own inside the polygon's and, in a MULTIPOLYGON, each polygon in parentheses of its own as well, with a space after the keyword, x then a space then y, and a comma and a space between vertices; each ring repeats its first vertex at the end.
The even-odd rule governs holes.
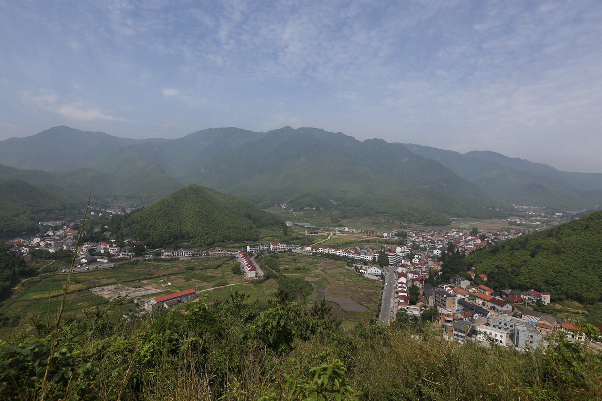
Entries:
MULTIPOLYGON (((23 325, 31 319, 46 319, 55 315, 60 306, 67 274, 57 272, 52 263, 40 270, 37 277, 20 283, 11 298, 2 302, 0 310, 5 316, 19 316, 23 325)), ((118 265, 116 268, 74 272, 71 277, 66 307, 66 317, 81 316, 87 308, 108 304, 117 293, 147 292, 142 298, 152 298, 188 288, 210 289, 216 286, 244 283, 241 275, 232 274, 232 266, 238 265, 233 257, 197 260, 158 260, 135 261, 118 265), (169 283, 169 284, 168 284, 169 283), (120 289, 114 287, 119 286, 120 289), (111 288, 113 287, 113 288, 111 288), (131 289, 126 291, 126 289, 131 289), (92 289, 102 289, 92 292, 92 289), (154 289, 151 293, 145 291, 154 289), (106 296, 102 296, 105 294, 106 296)), ((126 300, 119 308, 119 316, 134 311, 132 299, 126 300)), ((5 336, 10 328, 0 328, 5 336)))

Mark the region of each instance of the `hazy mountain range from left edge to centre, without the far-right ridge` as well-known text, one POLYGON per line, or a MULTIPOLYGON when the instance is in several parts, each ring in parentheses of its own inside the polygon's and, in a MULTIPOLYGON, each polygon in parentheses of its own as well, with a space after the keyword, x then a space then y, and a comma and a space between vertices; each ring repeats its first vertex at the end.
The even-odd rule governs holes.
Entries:
MULTIPOLYGON (((93 199, 127 197, 149 204, 184 183, 198 183, 263 208, 290 202, 296 208, 334 210, 334 200, 349 215, 390 213, 435 225, 446 224, 448 217, 503 217, 489 209, 508 209, 403 145, 361 142, 315 128, 264 133, 227 127, 178 139, 138 140, 62 126, 7 139, 0 147, 0 163, 19 168, 84 169, 69 182, 92 191, 93 199), (64 144, 65 151, 58 152, 57 144, 64 144)), ((29 176, 25 180, 32 183, 31 176, 39 182, 67 182, 49 174, 29 176)), ((65 174, 61 178, 67 179, 65 174)))

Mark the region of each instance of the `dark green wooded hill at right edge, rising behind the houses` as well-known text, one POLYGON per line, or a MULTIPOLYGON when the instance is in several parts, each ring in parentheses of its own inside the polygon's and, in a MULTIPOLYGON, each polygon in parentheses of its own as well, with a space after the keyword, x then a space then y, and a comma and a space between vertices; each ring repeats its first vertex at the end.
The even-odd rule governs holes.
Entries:
POLYGON ((602 300, 602 211, 544 231, 506 240, 444 266, 448 277, 471 266, 495 290, 536 289, 552 301, 602 300))

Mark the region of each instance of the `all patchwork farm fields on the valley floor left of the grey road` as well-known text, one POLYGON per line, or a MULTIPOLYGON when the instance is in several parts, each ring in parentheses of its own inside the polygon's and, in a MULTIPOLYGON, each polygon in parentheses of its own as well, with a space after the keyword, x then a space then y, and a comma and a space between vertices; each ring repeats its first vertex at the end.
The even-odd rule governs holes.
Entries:
MULTIPOLYGON (((311 299, 326 296, 332 311, 343 320, 344 326, 353 326, 374 314, 380 297, 380 283, 360 277, 346 262, 316 256, 281 254, 278 258, 281 272, 287 277, 301 277, 313 286, 311 299), (338 298, 330 298, 338 297, 338 298)), ((17 330, 27 329, 34 319, 46 320, 55 316, 60 307, 67 274, 57 272, 55 263, 40 263, 37 277, 20 283, 11 298, 0 304, 4 316, 18 316, 17 330)), ((238 265, 234 257, 194 260, 135 261, 115 268, 74 272, 67 293, 64 318, 82 316, 90 307, 108 307, 117 295, 132 295, 116 310, 116 317, 135 311, 133 296, 150 299, 167 293, 194 288, 199 301, 224 301, 233 292, 244 293, 249 301, 267 307, 278 289, 275 279, 259 283, 232 273, 238 265), (235 284, 235 285, 228 285, 235 284)), ((7 337, 15 327, 0 328, 0 337, 7 337)))

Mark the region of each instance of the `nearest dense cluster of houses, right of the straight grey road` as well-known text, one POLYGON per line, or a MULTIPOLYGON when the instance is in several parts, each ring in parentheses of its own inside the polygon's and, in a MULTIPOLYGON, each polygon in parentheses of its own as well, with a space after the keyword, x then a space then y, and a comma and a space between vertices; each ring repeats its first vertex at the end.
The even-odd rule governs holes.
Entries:
MULTIPOLYGON (((471 269, 474 276, 474 268, 471 269)), ((464 343, 465 341, 494 341, 518 349, 542 346, 544 338, 561 329, 571 338, 580 338, 571 323, 547 313, 524 309, 513 313, 516 304, 550 303, 550 294, 529 290, 517 293, 510 289, 494 292, 485 284, 471 285, 464 277, 456 276, 452 284, 435 288, 425 283, 422 269, 409 270, 400 266, 397 270, 397 310, 402 308, 410 316, 420 316, 423 308, 435 306, 438 320, 445 330, 445 337, 464 343), (408 287, 417 286, 423 292, 416 305, 409 304, 408 287)), ((486 282, 485 274, 479 281, 486 282)), ((602 326, 600 326, 602 329, 602 326)))

